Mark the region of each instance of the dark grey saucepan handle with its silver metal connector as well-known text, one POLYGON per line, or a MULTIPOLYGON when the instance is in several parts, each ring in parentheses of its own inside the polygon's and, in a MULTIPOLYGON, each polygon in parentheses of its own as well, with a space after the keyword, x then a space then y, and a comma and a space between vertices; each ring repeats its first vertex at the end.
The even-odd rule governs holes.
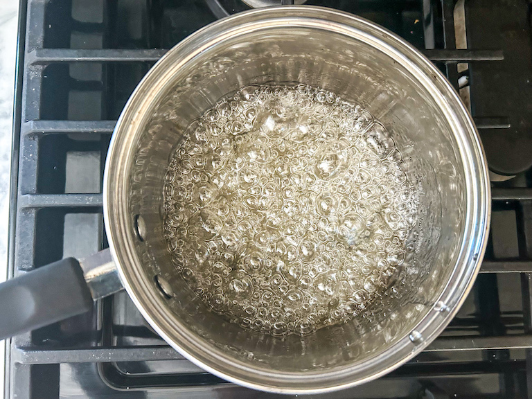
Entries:
POLYGON ((109 249, 66 258, 0 284, 0 339, 88 312, 122 290, 109 249))

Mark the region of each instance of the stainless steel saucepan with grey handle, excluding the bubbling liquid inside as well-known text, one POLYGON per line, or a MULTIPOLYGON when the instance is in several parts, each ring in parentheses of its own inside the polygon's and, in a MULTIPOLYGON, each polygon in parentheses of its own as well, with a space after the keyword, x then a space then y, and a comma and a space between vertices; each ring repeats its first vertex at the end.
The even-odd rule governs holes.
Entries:
POLYGON ((0 285, 0 338, 84 312, 123 285, 154 330, 206 371, 263 391, 333 391, 378 378, 432 342, 470 291, 488 237, 486 160, 449 82, 393 33, 326 8, 242 12, 177 44, 125 106, 104 179, 109 249, 0 285), (364 317, 285 339, 206 310, 172 266, 161 215, 170 153, 190 121, 240 87, 271 81, 362 105, 423 193, 414 257, 389 294, 364 317))

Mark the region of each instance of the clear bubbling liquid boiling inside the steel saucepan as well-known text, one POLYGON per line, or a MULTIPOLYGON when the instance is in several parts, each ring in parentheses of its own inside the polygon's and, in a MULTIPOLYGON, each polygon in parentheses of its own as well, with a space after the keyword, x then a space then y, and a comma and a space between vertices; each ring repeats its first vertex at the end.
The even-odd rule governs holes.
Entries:
POLYGON ((308 85, 222 98, 190 123, 166 171, 176 272, 213 312, 275 337, 367 317, 396 269, 420 272, 405 260, 418 190, 392 137, 308 85))

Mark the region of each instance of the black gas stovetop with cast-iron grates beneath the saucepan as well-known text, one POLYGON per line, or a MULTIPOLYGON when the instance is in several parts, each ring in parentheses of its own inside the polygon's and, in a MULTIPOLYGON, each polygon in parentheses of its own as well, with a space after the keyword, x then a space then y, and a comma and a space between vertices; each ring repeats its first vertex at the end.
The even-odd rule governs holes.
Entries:
MULTIPOLYGON (((309 0, 420 48, 466 103, 493 171, 474 290, 400 369, 327 398, 532 398, 532 45, 526 1, 309 0)), ((107 247, 102 175, 116 118, 168 48, 241 0, 21 0, 10 273, 107 247)), ((184 360, 124 292, 8 342, 6 398, 269 398, 184 360)))

